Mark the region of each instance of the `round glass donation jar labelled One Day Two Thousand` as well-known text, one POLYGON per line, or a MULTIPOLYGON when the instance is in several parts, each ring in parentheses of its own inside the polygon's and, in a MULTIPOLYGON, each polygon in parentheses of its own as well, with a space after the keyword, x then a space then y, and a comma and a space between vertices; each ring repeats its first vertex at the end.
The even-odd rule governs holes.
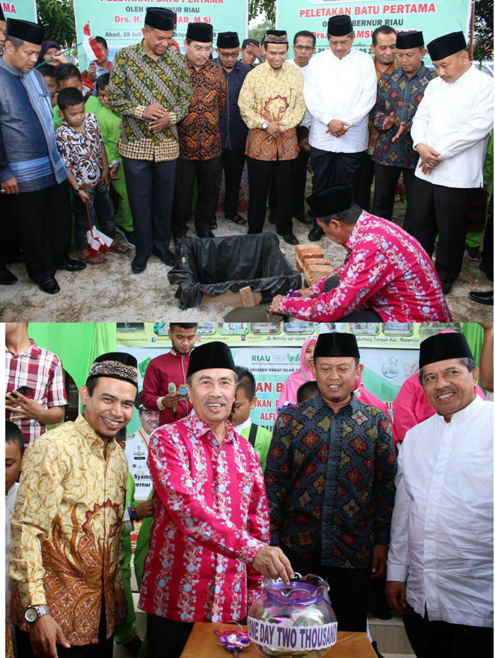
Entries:
POLYGON ((320 658, 337 642, 337 618, 330 587, 322 578, 296 573, 289 587, 262 580, 263 594, 248 612, 248 635, 267 658, 320 658))

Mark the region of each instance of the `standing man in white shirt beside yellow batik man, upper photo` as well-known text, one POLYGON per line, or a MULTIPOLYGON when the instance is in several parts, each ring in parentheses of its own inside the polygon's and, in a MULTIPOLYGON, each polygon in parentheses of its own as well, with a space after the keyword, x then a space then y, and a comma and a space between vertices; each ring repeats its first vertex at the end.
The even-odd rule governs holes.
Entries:
MULTIPOLYGON (((330 49, 313 57, 304 81, 314 194, 352 183, 368 148, 368 113, 376 100, 373 59, 352 50, 350 16, 332 16, 327 36, 330 49)), ((315 220, 308 237, 316 241, 322 235, 315 220)))

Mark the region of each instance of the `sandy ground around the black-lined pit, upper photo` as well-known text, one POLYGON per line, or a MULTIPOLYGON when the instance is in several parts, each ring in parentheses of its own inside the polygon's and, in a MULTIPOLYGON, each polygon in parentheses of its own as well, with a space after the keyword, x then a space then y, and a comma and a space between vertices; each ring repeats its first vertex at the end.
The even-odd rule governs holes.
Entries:
MULTIPOLYGON (((395 204, 394 219, 402 224, 403 207, 398 198, 395 204)), ((246 226, 237 226, 223 219, 218 213, 218 236, 238 235, 247 231, 246 226)), ((193 226, 193 222, 189 222, 193 226)), ((294 220, 294 233, 301 242, 308 242, 308 227, 294 220)), ((264 231, 274 231, 274 226, 265 221, 264 231)), ((194 227, 188 231, 195 236, 194 227)), ((121 239, 116 236, 116 239, 121 239)), ((320 246, 334 267, 344 260, 344 248, 322 238, 320 246)), ((173 247, 172 247, 173 248, 173 247)), ((295 268, 296 248, 281 241, 287 260, 295 268)), ((76 252, 72 254, 76 258, 76 252)), ((170 286, 167 278, 169 267, 151 256, 148 267, 139 275, 131 271, 134 250, 128 255, 107 254, 103 265, 88 265, 85 270, 74 274, 59 270, 57 281, 60 292, 49 295, 28 279, 23 263, 8 265, 18 277, 12 286, 0 286, 0 320, 38 322, 132 322, 155 321, 166 318, 168 321, 222 321, 231 307, 224 304, 202 304, 199 308, 181 311, 175 298, 175 286, 170 286)), ((493 306, 483 306, 470 301, 470 290, 489 290, 489 282, 478 268, 465 256, 462 272, 447 301, 453 321, 492 321, 493 306)))

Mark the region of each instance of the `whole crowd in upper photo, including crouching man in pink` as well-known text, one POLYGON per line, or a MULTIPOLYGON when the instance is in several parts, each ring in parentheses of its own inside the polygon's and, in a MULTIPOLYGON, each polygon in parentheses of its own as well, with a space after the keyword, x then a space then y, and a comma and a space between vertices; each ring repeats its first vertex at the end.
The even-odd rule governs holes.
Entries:
MULTIPOLYGON (((315 35, 301 30, 287 59, 284 30, 240 47, 237 33, 219 33, 214 43, 211 24, 190 23, 184 55, 174 30, 173 11, 148 8, 141 42, 109 62, 107 42, 95 37, 100 57, 81 74, 56 42, 43 42, 42 25, 8 19, 0 41, 0 200, 13 221, 4 223, 1 283, 15 283, 6 262, 21 250, 30 278, 58 292, 57 268, 105 262, 86 244, 95 225, 110 252, 135 250, 132 272, 143 272, 152 253, 175 265, 170 243, 187 234, 193 206, 197 237, 216 235, 222 171, 223 213, 248 233, 262 233, 269 204, 286 243, 298 243, 295 219, 313 224, 310 241, 325 234, 350 253, 332 281, 293 295, 311 302, 276 299, 272 311, 450 321, 444 295, 466 244, 493 280, 491 189, 481 202, 475 194, 493 178, 493 84, 470 62, 462 32, 426 50, 421 31, 380 25, 370 57, 353 47, 350 16, 334 16, 327 50, 315 54, 315 35), (245 165, 247 217, 238 209, 245 165), (392 221, 397 189, 403 228, 392 221), (481 232, 466 237, 475 198, 481 232), (77 260, 69 258, 73 215, 77 260)), ((472 299, 493 304, 489 292, 472 299)))

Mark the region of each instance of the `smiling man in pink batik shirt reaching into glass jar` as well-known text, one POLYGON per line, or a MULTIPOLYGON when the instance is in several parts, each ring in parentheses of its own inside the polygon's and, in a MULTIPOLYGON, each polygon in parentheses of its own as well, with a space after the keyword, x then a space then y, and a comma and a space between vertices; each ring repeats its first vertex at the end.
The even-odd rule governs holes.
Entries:
POLYGON ((155 521, 139 608, 148 613, 148 658, 177 658, 195 621, 243 619, 261 574, 289 582, 268 546, 263 474, 254 449, 227 420, 235 366, 223 342, 192 351, 187 387, 194 410, 151 437, 155 521))

